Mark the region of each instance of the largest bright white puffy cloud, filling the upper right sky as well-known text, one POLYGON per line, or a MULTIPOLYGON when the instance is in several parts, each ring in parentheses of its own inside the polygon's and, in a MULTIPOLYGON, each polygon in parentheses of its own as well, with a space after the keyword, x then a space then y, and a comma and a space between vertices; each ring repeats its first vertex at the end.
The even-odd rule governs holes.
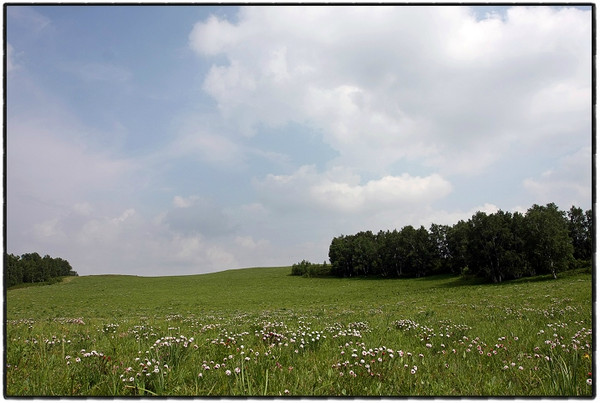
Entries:
POLYGON ((339 164, 421 158, 464 173, 589 126, 590 24, 570 8, 477 19, 464 6, 245 7, 236 22, 196 24, 190 46, 225 57, 204 89, 245 134, 301 122, 323 130, 339 164))

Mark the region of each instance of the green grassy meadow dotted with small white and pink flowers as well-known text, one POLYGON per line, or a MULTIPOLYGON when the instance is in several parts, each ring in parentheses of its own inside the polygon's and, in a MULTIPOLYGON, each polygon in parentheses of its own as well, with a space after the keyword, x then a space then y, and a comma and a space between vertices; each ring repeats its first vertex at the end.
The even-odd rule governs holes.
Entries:
POLYGON ((289 274, 9 290, 5 395, 595 395, 589 273, 501 284, 289 274))

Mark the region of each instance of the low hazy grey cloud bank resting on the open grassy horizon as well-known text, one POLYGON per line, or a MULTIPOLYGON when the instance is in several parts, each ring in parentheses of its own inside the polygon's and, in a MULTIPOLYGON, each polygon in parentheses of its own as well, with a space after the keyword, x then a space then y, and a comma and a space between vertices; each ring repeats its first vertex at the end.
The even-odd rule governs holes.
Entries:
MULTIPOLYGON (((176 210, 185 210, 185 207, 176 210)), ((203 273, 260 261, 263 254, 280 257, 264 239, 251 235, 215 237, 188 228, 174 228, 134 208, 111 215, 81 206, 61 210, 59 217, 41 219, 27 234, 28 249, 12 250, 63 256, 80 274, 128 273, 177 275, 203 273)), ((16 239, 11 239, 15 241, 16 239)), ((23 242, 20 245, 24 245, 23 242)))

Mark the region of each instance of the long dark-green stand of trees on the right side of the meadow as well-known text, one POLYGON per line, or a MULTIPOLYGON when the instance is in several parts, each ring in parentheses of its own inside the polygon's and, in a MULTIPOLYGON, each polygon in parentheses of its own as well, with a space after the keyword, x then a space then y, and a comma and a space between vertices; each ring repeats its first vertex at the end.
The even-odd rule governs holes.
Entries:
POLYGON ((592 211, 554 203, 534 204, 525 214, 477 212, 453 226, 432 224, 400 231, 359 232, 331 241, 327 264, 302 261, 293 275, 423 277, 462 274, 494 283, 576 267, 590 267, 592 211))

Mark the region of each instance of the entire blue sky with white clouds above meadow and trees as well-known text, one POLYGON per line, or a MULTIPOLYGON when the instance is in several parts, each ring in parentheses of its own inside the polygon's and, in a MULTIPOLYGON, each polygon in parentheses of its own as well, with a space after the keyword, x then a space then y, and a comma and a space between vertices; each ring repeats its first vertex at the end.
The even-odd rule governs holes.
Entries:
POLYGON ((7 252, 185 275, 590 209, 591 38, 591 7, 7 6, 7 252))

